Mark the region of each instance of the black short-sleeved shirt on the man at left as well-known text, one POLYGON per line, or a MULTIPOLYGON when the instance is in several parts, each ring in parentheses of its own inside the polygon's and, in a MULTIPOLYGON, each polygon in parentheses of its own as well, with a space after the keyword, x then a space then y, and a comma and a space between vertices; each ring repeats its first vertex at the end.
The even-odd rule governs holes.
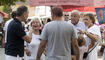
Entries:
POLYGON ((21 22, 14 18, 13 21, 9 23, 7 30, 7 43, 5 46, 6 55, 24 56, 24 40, 22 37, 25 35, 26 33, 21 22))

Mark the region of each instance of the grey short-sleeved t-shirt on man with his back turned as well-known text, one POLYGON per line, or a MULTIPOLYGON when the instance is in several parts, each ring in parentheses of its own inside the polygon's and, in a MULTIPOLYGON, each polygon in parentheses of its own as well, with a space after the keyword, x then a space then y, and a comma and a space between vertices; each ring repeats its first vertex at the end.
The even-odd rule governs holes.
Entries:
POLYGON ((47 40, 46 60, 71 60, 72 38, 77 38, 72 24, 63 20, 47 23, 41 34, 41 39, 47 40))

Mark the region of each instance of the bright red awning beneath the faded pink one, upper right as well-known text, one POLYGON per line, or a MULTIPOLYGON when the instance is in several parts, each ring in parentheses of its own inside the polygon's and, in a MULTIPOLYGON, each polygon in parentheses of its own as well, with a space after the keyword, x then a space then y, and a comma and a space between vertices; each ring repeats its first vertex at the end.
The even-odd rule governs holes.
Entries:
POLYGON ((72 6, 72 5, 62 5, 64 12, 70 12, 72 10, 79 10, 80 12, 95 12, 95 8, 104 7, 104 5, 96 7, 86 7, 86 6, 72 6))

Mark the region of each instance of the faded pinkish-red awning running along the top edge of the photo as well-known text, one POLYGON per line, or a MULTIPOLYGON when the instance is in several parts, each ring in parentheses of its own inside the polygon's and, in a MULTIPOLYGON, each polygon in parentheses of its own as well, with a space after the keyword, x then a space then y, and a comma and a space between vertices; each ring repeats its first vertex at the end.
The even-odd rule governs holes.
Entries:
POLYGON ((98 6, 104 5, 105 0, 29 0, 30 6, 45 5, 75 5, 75 6, 98 6))

